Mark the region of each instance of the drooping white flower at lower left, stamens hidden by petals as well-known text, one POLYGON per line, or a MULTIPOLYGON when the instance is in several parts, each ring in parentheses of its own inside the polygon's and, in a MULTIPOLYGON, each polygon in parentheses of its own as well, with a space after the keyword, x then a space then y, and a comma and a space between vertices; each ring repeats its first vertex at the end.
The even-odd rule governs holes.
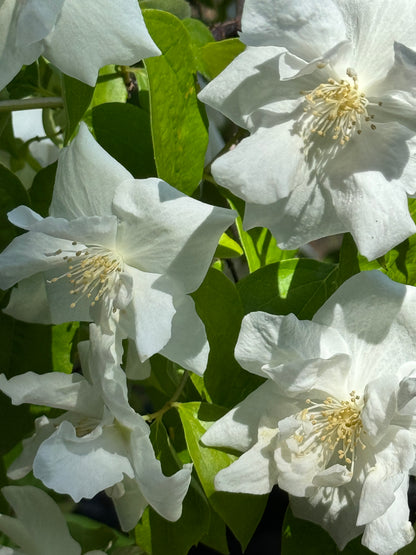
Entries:
POLYGON ((116 510, 124 530, 133 528, 150 504, 167 520, 177 520, 188 491, 191 466, 164 476, 149 439, 150 429, 127 400, 120 368, 121 342, 90 325, 90 341, 81 343, 84 374, 37 375, 7 380, 0 390, 13 404, 32 403, 64 409, 58 418, 36 420, 36 433, 23 441, 23 452, 8 469, 19 479, 33 468, 49 488, 74 501, 117 486, 116 510), (134 492, 134 495, 129 493, 134 492), (120 509, 119 509, 120 507, 120 509))

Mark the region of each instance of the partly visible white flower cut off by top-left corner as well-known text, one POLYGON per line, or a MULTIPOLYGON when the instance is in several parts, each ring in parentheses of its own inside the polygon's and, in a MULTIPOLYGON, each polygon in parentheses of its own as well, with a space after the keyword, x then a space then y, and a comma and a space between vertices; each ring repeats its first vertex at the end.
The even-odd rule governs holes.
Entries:
POLYGON ((94 86, 110 63, 157 56, 137 0, 3 0, 0 4, 0 90, 22 65, 45 56, 94 86))

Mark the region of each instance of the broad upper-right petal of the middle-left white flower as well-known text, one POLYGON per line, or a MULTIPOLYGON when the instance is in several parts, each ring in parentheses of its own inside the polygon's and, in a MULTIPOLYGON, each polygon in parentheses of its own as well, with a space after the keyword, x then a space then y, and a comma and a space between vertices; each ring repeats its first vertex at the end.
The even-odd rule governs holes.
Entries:
POLYGON ((167 274, 186 293, 201 284, 221 234, 235 219, 231 210, 194 200, 156 178, 125 181, 113 206, 121 219, 117 249, 126 263, 167 274))

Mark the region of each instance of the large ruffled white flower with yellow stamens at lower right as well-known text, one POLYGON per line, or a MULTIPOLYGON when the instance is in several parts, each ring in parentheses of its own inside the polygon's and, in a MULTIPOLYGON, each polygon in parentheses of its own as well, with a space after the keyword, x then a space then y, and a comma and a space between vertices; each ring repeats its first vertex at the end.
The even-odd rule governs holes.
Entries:
POLYGON ((340 549, 362 531, 379 555, 409 543, 415 334, 416 289, 376 271, 345 282, 312 321, 247 315, 236 358, 267 381, 203 437, 244 452, 216 488, 263 494, 279 484, 295 515, 340 549))

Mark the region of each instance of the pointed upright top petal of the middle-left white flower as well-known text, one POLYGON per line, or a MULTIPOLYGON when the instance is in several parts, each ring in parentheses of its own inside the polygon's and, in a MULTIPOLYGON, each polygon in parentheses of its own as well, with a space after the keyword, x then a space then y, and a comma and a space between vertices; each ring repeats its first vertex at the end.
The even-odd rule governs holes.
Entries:
MULTIPOLYGON (((67 5, 72 5, 72 0, 65 2, 67 5)), ((67 220, 110 216, 114 191, 126 179, 133 179, 131 173, 95 141, 82 123, 78 135, 59 155, 49 213, 54 218, 67 220)))

